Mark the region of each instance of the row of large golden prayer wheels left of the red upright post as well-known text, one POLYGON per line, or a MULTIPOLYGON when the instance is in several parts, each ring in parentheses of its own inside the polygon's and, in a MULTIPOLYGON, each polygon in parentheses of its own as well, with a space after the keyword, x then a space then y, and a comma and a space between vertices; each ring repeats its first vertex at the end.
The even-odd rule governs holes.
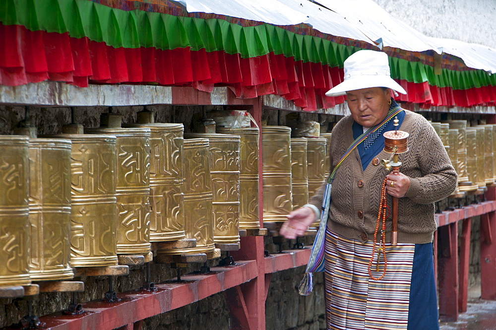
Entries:
MULTIPOLYGON (((86 134, 72 125, 46 138, 0 136, 0 286, 71 278, 74 266, 148 254, 150 241, 197 240, 194 249, 163 254, 239 243, 240 136, 184 141, 182 124, 121 128, 120 121, 104 116, 103 127, 86 134)), ((257 156, 255 130, 245 146, 257 156)), ((256 180, 244 220, 253 228, 257 157, 250 166, 245 175, 256 180)))

